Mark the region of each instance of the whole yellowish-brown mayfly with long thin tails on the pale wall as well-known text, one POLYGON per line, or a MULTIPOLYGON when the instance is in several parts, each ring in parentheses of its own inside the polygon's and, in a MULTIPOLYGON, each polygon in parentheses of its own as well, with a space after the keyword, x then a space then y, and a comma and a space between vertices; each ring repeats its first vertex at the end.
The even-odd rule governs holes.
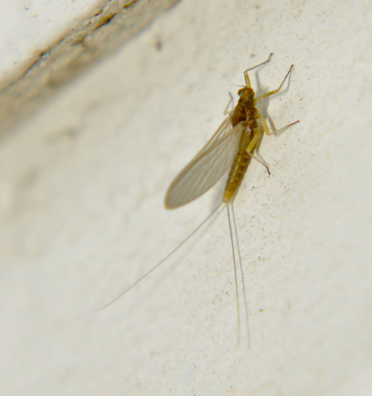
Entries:
MULTIPOLYGON (((175 209, 178 208, 179 206, 185 205, 186 203, 193 201, 194 199, 200 197, 202 194, 208 191, 217 181, 221 179, 221 177, 228 170, 230 170, 227 177, 225 190, 222 196, 222 202, 187 238, 185 238, 175 249, 173 249, 166 257, 164 257, 161 262, 159 262, 154 267, 152 267, 150 271, 144 274, 128 289, 122 292, 119 296, 115 297, 103 308, 113 303, 113 301, 123 296, 133 286, 135 286, 137 283, 139 283, 144 278, 146 278, 147 275, 149 275, 155 268, 157 268, 160 264, 162 264, 192 235, 194 235, 194 233, 210 219, 212 214, 214 214, 222 204, 226 204, 226 212, 227 212, 227 218, 228 218, 228 224, 230 230, 231 248, 232 248, 232 259, 234 264, 236 301, 238 307, 238 340, 239 340, 240 338, 239 337, 239 331, 240 331, 239 330, 240 329, 239 294, 238 294, 238 281, 237 281, 237 271, 236 271, 236 254, 234 249, 234 239, 233 239, 233 232, 231 226, 229 205, 231 206, 232 209, 233 198, 243 179, 244 173, 247 169, 247 166, 251 158, 254 158, 255 160, 259 161, 260 164, 264 165, 267 169, 267 172, 270 174, 267 165, 265 165, 254 155, 254 151, 259 147, 259 143, 263 136, 263 133, 265 132, 267 135, 278 133, 290 127, 291 125, 295 124, 296 122, 299 122, 297 120, 295 122, 292 122, 291 124, 286 125, 285 127, 279 130, 270 132, 265 119, 259 115, 259 112, 255 107, 256 103, 260 99, 267 98, 280 91, 280 89, 282 88, 284 82, 287 80, 287 77, 289 76, 293 68, 293 65, 291 65, 290 69, 288 70, 283 81, 281 82, 281 84, 277 89, 274 89, 273 91, 269 91, 266 94, 260 96, 255 96, 255 92, 249 80, 248 72, 270 62, 272 55, 273 54, 271 53, 269 58, 265 62, 250 67, 244 71, 245 85, 243 85, 242 88, 238 90, 239 99, 237 105, 232 109, 232 111, 230 112, 225 111, 225 114, 228 114, 227 117, 224 119, 222 124, 218 127, 217 131, 213 134, 213 136, 209 139, 209 141, 205 144, 205 146, 195 155, 193 160, 180 171, 178 176, 169 186, 164 199, 164 204, 167 209, 175 209)), ((230 103, 232 103, 232 100, 233 98, 230 94, 230 101, 226 107, 226 110, 229 107, 230 103)), ((235 231, 236 231, 236 227, 235 227, 235 231)), ((242 273, 242 282, 243 282, 243 270, 240 260, 239 248, 238 248, 238 259, 239 259, 240 270, 242 273)), ((245 300, 246 297, 244 291, 244 283, 243 283, 243 296, 246 307, 247 304, 245 300)), ((245 310, 245 314, 247 316, 247 308, 245 310)), ((248 318, 247 318, 247 323, 248 323, 248 318)), ((248 345, 249 345, 249 340, 248 340, 248 345)))

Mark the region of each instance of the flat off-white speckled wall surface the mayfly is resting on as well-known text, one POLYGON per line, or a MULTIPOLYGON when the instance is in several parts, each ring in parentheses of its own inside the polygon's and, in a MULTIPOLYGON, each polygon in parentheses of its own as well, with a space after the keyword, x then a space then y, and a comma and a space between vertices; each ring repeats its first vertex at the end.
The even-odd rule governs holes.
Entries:
POLYGON ((371 10, 199 3, 179 3, 1 144, 7 395, 371 394, 371 10), (99 311, 218 201, 221 186, 162 207, 232 84, 270 52, 258 92, 295 67, 260 110, 276 127, 301 122, 264 138, 272 175, 252 163, 235 200, 251 348, 243 327, 236 350, 224 212, 99 311))

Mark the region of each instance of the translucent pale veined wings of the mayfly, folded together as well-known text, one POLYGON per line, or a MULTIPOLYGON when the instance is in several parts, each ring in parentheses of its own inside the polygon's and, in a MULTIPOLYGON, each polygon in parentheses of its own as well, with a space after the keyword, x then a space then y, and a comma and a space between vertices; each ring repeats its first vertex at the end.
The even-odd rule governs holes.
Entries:
POLYGON ((165 207, 177 208, 201 196, 231 167, 238 152, 244 127, 231 128, 227 117, 207 144, 186 165, 169 186, 165 207))

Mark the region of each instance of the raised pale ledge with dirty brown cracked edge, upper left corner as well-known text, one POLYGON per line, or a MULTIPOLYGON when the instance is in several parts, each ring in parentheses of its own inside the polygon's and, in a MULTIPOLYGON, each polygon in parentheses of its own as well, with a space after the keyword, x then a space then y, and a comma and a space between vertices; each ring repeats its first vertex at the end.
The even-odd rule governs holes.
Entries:
POLYGON ((0 138, 176 1, 0 3, 0 138))

